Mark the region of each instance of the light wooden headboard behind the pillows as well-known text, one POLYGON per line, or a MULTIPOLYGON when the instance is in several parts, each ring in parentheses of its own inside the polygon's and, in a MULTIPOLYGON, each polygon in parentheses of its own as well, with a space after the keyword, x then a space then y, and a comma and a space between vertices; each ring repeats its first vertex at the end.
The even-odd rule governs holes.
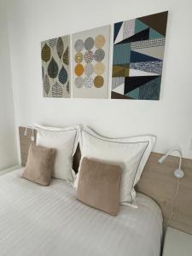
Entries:
MULTIPOLYGON (((32 130, 27 130, 26 137, 24 136, 25 130, 26 127, 19 127, 22 166, 26 165, 28 148, 32 143, 32 130)), ((34 133, 36 137, 37 131, 34 133)), ((157 153, 150 155, 136 190, 156 201, 166 222, 171 214, 172 195, 177 189, 177 178, 173 176, 173 172, 178 166, 178 158, 170 156, 164 164, 160 165, 158 160, 161 156, 162 154, 157 153)), ((73 160, 73 168, 76 172, 79 160, 80 150, 78 148, 73 160)), ((184 177, 180 179, 178 195, 174 201, 174 213, 169 225, 192 235, 192 160, 183 159, 182 168, 184 177)))

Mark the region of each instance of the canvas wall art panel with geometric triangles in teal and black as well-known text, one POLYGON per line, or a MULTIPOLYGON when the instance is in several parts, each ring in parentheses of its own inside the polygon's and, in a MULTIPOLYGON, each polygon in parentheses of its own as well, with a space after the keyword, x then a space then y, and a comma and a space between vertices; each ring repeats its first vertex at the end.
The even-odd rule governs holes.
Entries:
POLYGON ((112 99, 160 99, 167 15, 114 24, 112 99))

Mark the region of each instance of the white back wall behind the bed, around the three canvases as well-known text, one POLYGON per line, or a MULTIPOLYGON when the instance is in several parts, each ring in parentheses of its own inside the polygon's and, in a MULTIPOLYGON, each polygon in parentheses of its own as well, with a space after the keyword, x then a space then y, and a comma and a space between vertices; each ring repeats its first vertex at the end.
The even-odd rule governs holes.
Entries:
POLYGON ((178 143, 192 158, 191 0, 9 0, 16 125, 85 123, 109 137, 157 135, 154 151, 178 143), (40 42, 169 10, 160 101, 44 98, 40 42))

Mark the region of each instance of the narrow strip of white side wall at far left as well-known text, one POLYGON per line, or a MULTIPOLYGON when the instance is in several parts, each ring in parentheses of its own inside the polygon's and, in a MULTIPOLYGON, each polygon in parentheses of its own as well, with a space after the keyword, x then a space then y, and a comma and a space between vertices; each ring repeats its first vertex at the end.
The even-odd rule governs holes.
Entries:
POLYGON ((0 170, 17 163, 6 8, 0 1, 0 170))

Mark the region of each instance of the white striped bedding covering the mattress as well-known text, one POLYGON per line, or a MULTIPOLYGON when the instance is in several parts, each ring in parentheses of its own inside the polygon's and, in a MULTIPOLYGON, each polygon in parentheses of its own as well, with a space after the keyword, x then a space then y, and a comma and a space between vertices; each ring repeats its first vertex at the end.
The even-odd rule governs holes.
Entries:
POLYGON ((162 215, 147 196, 112 217, 77 201, 65 181, 42 187, 21 173, 0 177, 1 256, 160 255, 162 215))

